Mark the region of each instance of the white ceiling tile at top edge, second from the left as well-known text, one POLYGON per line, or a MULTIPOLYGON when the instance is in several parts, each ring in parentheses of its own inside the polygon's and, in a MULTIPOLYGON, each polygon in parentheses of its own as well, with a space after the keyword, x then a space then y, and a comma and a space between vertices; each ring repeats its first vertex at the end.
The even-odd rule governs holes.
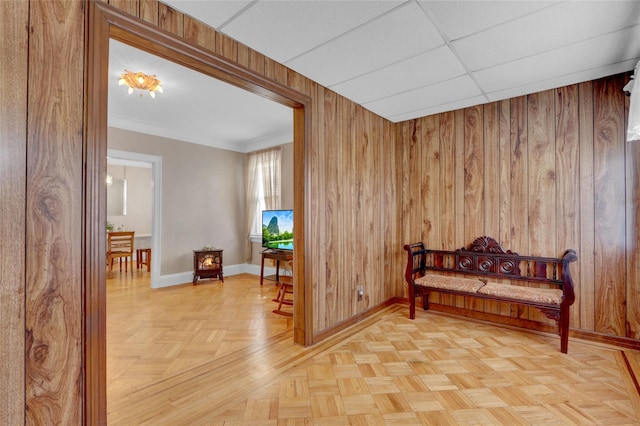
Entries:
POLYGON ((261 1, 222 31, 284 63, 401 3, 401 0, 261 1))

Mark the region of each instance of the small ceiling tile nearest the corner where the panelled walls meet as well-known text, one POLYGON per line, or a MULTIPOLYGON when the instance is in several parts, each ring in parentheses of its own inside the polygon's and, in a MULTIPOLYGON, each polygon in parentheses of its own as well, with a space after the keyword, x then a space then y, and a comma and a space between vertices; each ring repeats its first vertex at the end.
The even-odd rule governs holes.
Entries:
POLYGON ((422 87, 410 92, 390 96, 363 106, 383 117, 432 108, 464 98, 481 95, 480 90, 468 75, 422 87))

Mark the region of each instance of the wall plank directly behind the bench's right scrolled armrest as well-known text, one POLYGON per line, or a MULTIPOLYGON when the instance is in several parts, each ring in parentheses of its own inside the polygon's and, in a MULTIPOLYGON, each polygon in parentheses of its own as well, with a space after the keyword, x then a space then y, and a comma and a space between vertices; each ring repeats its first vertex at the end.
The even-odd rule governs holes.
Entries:
MULTIPOLYGON (((556 182, 558 246, 553 256, 564 250, 578 250, 580 243, 580 120, 578 85, 561 87, 556 96, 556 182)), ((580 253, 578 253, 580 260, 580 253)), ((580 269, 571 265, 571 275, 580 282, 580 269)), ((570 326, 578 328, 578 311, 572 307, 570 326)))

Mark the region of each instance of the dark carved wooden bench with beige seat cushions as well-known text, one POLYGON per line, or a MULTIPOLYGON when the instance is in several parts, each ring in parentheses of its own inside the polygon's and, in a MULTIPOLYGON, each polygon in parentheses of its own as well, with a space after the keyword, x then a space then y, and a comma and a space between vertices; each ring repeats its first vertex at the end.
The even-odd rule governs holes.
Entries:
POLYGON ((415 318, 416 297, 422 296, 423 309, 429 308, 432 291, 531 306, 557 322, 560 351, 567 353, 569 308, 575 301, 569 264, 578 260, 575 250, 567 250, 562 258, 521 256, 491 237, 477 238, 455 251, 425 249, 422 242, 404 249, 409 318, 415 318))

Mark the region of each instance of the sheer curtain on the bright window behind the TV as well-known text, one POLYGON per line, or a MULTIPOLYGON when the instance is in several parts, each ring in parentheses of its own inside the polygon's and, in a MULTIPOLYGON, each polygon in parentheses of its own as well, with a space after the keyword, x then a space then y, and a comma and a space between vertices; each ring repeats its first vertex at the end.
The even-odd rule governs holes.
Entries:
POLYGON ((251 235, 258 232, 260 212, 280 208, 281 148, 252 152, 247 162, 247 245, 245 257, 251 260, 251 235))

